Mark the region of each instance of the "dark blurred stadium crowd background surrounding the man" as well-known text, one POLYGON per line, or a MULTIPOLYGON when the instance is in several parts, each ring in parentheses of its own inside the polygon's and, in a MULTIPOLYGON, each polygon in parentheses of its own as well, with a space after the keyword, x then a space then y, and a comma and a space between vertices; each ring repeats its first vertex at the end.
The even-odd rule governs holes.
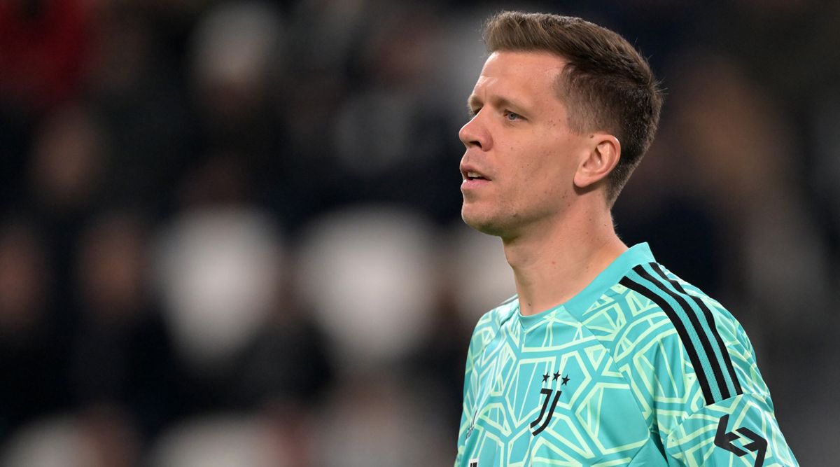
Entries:
POLYGON ((501 8, 624 35, 667 90, 627 244, 743 323, 803 465, 840 433, 840 3, 3 0, 0 465, 454 459, 459 219, 501 8))

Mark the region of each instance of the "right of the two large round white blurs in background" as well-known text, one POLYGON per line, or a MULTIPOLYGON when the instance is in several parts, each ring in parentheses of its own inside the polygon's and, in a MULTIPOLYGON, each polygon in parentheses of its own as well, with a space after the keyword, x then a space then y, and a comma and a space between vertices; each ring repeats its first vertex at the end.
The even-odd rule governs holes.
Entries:
POLYGON ((423 218, 388 207, 332 213, 305 231, 298 286, 339 370, 396 365, 428 333, 432 236, 423 218))

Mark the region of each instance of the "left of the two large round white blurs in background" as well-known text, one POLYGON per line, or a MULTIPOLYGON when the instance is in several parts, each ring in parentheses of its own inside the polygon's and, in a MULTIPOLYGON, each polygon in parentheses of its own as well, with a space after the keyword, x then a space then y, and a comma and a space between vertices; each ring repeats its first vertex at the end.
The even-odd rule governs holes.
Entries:
POLYGON ((280 247, 262 213, 188 213, 160 238, 157 283, 181 353, 197 368, 226 365, 265 322, 280 247))

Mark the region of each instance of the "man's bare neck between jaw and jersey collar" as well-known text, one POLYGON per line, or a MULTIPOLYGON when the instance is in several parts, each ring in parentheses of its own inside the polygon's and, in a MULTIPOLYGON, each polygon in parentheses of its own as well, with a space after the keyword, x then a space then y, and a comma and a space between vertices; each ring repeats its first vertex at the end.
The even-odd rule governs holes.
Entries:
POLYGON ((609 210, 598 206, 570 209, 503 243, 523 315, 569 301, 627 250, 609 210))

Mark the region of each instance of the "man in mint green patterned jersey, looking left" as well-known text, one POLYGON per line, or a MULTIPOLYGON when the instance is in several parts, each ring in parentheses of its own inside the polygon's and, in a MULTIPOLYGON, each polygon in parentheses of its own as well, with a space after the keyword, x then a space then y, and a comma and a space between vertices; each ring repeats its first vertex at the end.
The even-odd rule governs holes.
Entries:
POLYGON ((501 13, 484 37, 462 215, 517 296, 475 328, 455 464, 797 464, 743 328, 614 231, 659 121, 647 62, 580 18, 501 13))

